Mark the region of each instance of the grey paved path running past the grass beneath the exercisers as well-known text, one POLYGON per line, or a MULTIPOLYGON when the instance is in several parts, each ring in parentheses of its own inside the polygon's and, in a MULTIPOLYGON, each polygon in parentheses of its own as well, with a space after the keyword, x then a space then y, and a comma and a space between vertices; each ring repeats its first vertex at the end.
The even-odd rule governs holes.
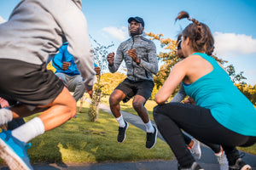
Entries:
MULTIPOLYGON (((100 105, 102 111, 106 111, 111 114, 108 105, 100 105)), ((145 126, 140 117, 132 115, 131 113, 121 111, 126 122, 145 130, 145 126)), ((155 124, 152 121, 153 124, 155 124)), ((158 138, 164 140, 160 133, 158 138)), ((218 162, 216 156, 213 155, 212 150, 207 146, 201 146, 202 156, 198 161, 205 170, 218 170, 218 162)), ((256 170, 256 156, 245 153, 242 158, 253 170, 256 170)), ((32 165, 35 170, 172 170, 177 169, 177 161, 129 161, 129 162, 108 162, 108 163, 96 163, 96 164, 36 164, 32 165)), ((6 166, 0 165, 0 170, 8 170, 6 166)))

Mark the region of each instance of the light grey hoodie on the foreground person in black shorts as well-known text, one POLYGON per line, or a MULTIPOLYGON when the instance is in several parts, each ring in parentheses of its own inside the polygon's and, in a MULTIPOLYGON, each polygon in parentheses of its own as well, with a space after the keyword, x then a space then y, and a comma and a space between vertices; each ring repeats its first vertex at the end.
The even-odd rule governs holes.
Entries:
POLYGON ((96 73, 81 8, 80 0, 21 1, 0 25, 0 59, 42 65, 67 41, 86 88, 92 88, 96 73))

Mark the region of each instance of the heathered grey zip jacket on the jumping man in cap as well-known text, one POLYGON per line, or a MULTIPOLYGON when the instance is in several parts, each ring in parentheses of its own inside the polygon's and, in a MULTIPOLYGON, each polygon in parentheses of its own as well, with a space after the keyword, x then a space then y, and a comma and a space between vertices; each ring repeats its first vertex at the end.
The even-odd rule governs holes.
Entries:
POLYGON ((117 49, 113 60, 113 65, 109 66, 110 72, 115 72, 119 69, 119 65, 125 59, 127 68, 127 78, 131 81, 151 80, 153 81, 152 73, 158 72, 157 54, 154 42, 143 37, 144 34, 137 35, 122 42, 117 49), (136 48, 137 57, 141 59, 141 63, 137 65, 126 52, 136 48))

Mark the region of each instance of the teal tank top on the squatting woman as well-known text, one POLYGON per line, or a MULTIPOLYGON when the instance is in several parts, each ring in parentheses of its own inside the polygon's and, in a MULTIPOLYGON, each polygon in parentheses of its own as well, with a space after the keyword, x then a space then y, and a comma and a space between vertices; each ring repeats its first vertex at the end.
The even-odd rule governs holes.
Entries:
POLYGON ((200 55, 212 64, 213 70, 186 85, 185 93, 196 105, 211 111, 214 119, 224 127, 242 135, 256 136, 256 109, 244 96, 218 62, 207 54, 200 55))

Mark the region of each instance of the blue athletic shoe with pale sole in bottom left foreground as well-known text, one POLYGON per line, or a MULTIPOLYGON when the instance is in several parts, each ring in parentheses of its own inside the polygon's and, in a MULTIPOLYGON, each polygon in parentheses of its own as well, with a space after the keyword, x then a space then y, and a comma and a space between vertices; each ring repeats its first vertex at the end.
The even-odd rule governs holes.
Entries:
POLYGON ((0 133, 0 156, 11 170, 32 170, 27 156, 28 145, 12 136, 11 131, 0 133))

